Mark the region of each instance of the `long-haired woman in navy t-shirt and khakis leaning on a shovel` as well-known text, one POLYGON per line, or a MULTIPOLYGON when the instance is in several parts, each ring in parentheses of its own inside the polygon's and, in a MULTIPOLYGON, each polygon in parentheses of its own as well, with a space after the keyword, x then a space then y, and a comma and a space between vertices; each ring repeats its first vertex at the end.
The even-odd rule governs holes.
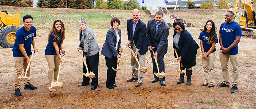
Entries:
MULTIPOLYGON (((48 62, 48 79, 51 84, 53 81, 53 72, 54 72, 54 81, 57 81, 57 75, 59 70, 60 62, 62 59, 60 57, 60 50, 63 50, 62 43, 65 39, 65 27, 61 20, 55 20, 53 22, 52 30, 48 35, 48 44, 45 48, 45 57, 48 62)), ((49 87, 50 92, 56 92, 55 89, 49 87)))

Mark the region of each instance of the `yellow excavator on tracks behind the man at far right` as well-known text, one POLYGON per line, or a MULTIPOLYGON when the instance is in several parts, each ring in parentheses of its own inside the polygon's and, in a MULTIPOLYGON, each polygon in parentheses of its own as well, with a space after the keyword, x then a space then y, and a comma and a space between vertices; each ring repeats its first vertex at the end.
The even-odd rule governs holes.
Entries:
POLYGON ((241 10, 238 24, 241 26, 244 37, 256 38, 256 19, 255 10, 253 9, 253 0, 233 0, 230 11, 234 12, 234 20, 238 11, 244 6, 245 10, 241 10))

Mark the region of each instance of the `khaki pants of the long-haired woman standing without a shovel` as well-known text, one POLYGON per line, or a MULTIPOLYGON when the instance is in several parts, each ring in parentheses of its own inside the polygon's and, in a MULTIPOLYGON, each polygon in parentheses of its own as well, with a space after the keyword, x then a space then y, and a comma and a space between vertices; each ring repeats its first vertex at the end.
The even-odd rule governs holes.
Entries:
MULTIPOLYGON (((207 52, 206 52, 207 53, 207 52)), ((209 74, 211 82, 210 84, 215 85, 214 79, 215 79, 215 67, 214 67, 214 61, 215 61, 215 52, 210 53, 208 56, 208 59, 204 59, 202 56, 202 63, 204 68, 204 83, 209 83, 209 74)))

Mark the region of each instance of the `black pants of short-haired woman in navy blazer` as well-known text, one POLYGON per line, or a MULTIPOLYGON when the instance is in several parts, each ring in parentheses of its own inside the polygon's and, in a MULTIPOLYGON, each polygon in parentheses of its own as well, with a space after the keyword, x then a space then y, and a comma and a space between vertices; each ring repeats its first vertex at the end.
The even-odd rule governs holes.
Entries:
POLYGON ((116 69, 117 67, 117 56, 115 57, 113 55, 111 58, 105 57, 105 60, 108 67, 106 87, 111 87, 114 83, 116 83, 116 71, 114 71, 112 68, 116 69))

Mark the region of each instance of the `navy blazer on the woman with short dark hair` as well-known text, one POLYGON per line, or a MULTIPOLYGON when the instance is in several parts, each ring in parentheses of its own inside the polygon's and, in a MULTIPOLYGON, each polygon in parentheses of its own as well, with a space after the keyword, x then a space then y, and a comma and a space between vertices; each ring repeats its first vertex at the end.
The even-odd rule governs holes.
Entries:
POLYGON ((121 30, 117 28, 118 34, 119 34, 119 42, 117 45, 117 50, 116 50, 116 40, 117 40, 117 35, 114 30, 114 28, 110 28, 106 34, 106 40, 105 43, 103 44, 102 50, 101 50, 101 55, 111 58, 113 55, 116 57, 119 53, 119 48, 121 47, 121 30))

